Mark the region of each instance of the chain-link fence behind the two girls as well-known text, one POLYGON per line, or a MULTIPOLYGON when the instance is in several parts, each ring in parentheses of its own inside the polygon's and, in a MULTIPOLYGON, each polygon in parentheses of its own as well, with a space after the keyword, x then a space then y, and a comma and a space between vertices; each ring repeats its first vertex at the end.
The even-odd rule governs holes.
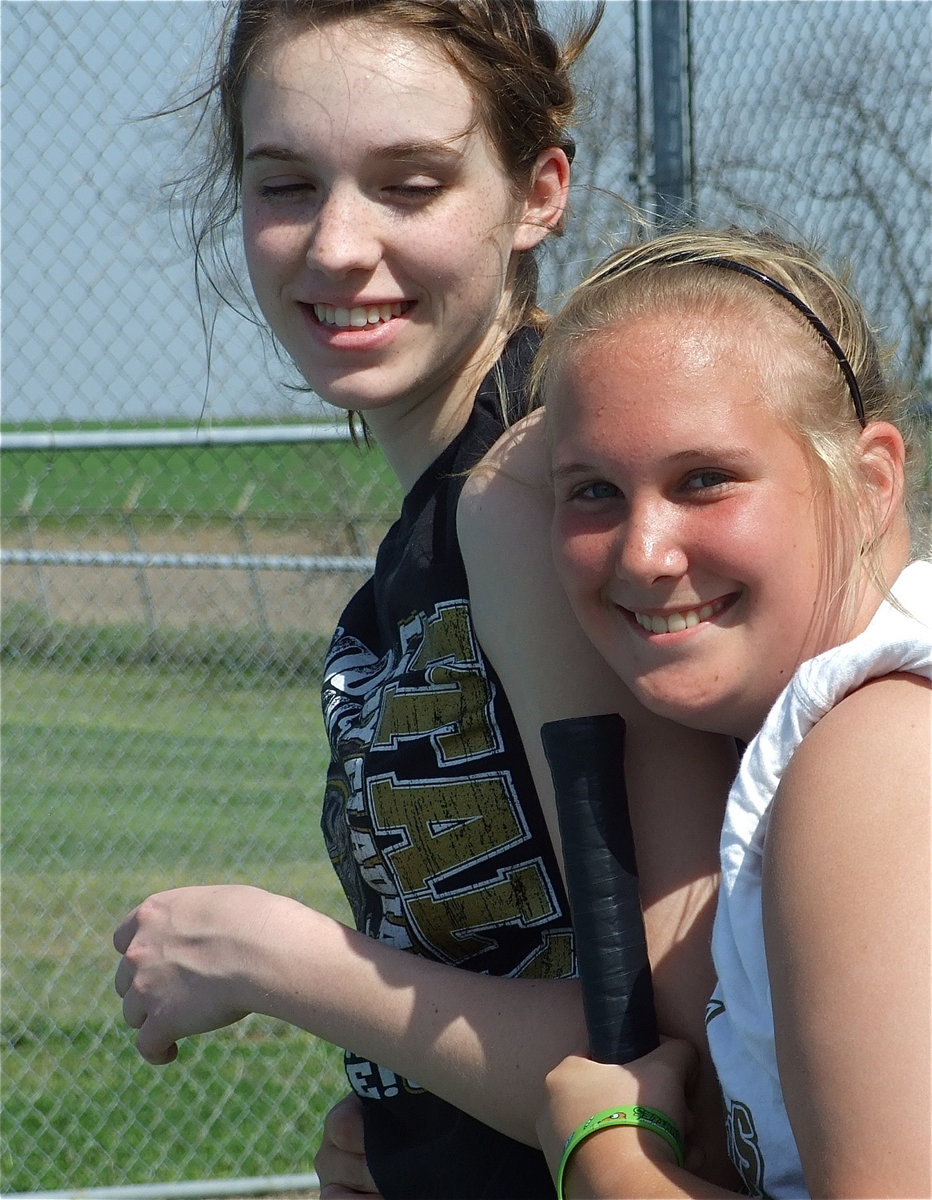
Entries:
MULTIPOLYGON (((197 79, 223 8, 0 8, 5 1194, 294 1187, 344 1086, 337 1051, 255 1018, 148 1067, 112 988, 113 928, 150 890, 239 880, 344 914, 315 692, 399 503, 243 316, 208 312, 205 366, 163 187, 191 119, 145 118, 197 79)), ((689 6, 693 211, 849 258, 926 402, 931 13, 689 6)), ((650 208, 649 22, 613 0, 590 48, 551 296, 650 208)))

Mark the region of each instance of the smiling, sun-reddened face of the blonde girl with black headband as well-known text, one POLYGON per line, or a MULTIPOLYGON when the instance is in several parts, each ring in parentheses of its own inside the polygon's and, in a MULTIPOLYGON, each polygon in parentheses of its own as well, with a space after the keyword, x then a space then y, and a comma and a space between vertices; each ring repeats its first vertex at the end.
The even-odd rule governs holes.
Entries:
POLYGON ((547 395, 554 553, 585 632, 647 707, 745 739, 831 644, 811 472, 753 344, 736 318, 627 318, 547 395))

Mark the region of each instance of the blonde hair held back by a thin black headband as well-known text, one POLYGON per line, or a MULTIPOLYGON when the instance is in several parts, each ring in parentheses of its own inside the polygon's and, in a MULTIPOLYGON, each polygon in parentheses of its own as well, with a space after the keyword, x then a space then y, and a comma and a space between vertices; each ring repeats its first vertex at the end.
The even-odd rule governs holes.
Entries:
MULTIPOLYGON (((717 324, 738 314, 754 332, 762 404, 784 419, 810 462, 824 550, 828 608, 842 623, 867 566, 880 577, 878 536, 865 528, 858 437, 872 421, 895 425, 918 499, 920 422, 910 395, 848 287, 813 250, 772 233, 685 229, 626 246, 606 258, 552 319, 531 376, 535 400, 548 402, 563 367, 587 340, 631 317, 689 311, 717 324), (776 335, 776 336, 775 336, 776 335)), ((552 402, 552 401, 551 401, 552 402)))

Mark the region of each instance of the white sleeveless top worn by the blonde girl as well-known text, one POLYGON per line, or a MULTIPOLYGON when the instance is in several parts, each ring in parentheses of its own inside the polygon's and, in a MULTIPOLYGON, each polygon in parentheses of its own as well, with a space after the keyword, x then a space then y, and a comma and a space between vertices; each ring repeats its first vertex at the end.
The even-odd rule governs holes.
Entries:
POLYGON ((728 797, 712 932, 718 982, 705 1022, 729 1152, 754 1196, 808 1195, 780 1087, 764 954, 760 872, 770 805, 796 746, 848 692, 894 671, 932 678, 932 563, 907 566, 892 593, 906 612, 884 601, 862 634, 799 667, 747 746, 728 797))

